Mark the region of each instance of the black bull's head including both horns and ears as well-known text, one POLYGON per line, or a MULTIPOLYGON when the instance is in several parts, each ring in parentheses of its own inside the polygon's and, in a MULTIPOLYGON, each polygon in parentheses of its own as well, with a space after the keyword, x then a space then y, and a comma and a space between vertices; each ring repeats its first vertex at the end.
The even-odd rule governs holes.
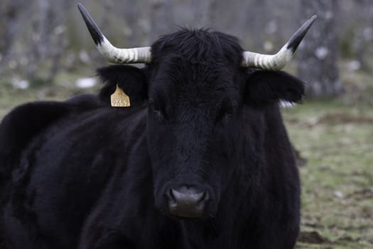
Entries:
POLYGON ((79 9, 105 58, 146 63, 142 70, 112 66, 99 74, 112 85, 123 82, 125 91, 139 85, 134 97, 148 103, 156 207, 173 216, 214 216, 226 186, 242 188, 240 177, 250 177, 244 164, 261 164, 266 115, 279 100, 301 100, 303 83, 274 71, 290 60, 315 16, 279 53, 261 55, 243 51, 233 36, 205 30, 177 31, 151 47, 115 48, 79 9))

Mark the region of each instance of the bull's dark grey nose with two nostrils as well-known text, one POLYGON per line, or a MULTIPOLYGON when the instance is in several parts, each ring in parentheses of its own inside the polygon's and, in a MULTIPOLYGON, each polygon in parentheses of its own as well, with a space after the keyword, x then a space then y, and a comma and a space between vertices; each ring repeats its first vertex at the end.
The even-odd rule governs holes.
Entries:
POLYGON ((209 198, 207 192, 182 186, 169 192, 168 207, 173 216, 199 218, 209 198))

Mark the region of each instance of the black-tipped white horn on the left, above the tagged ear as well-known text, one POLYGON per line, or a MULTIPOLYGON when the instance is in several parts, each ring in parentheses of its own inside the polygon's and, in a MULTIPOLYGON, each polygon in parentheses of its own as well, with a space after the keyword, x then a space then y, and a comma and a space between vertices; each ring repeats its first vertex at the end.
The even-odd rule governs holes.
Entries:
POLYGON ((77 4, 77 8, 80 14, 82 14, 85 25, 87 25, 88 31, 90 31, 99 53, 104 55, 104 58, 107 58, 109 62, 117 64, 151 62, 150 47, 116 48, 112 46, 112 43, 102 34, 85 7, 83 7, 82 4, 77 4))

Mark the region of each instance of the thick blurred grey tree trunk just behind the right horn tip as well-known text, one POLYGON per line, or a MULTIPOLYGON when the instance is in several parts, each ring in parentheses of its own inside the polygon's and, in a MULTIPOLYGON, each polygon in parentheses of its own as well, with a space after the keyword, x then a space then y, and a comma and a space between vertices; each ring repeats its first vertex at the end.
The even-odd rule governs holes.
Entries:
MULTIPOLYGON (((342 86, 337 70, 337 0, 301 0, 303 18, 317 14, 312 28, 298 51, 298 76, 304 80, 309 97, 340 95, 342 86)), ((305 20, 303 20, 305 21, 305 20)))

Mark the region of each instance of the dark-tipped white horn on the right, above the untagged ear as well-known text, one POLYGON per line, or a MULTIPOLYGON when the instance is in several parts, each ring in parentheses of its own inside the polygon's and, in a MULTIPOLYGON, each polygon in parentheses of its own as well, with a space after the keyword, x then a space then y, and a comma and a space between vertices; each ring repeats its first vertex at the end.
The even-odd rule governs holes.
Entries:
POLYGON ((306 36, 308 28, 316 19, 316 15, 303 23, 301 28, 296 31, 296 33, 291 36, 290 40, 281 48, 281 50, 275 55, 264 55, 261 53, 253 53, 250 51, 245 51, 243 53, 244 60, 242 61, 242 67, 244 68, 260 68, 264 70, 281 70, 286 63, 291 60, 291 57, 296 52, 299 43, 306 36))

